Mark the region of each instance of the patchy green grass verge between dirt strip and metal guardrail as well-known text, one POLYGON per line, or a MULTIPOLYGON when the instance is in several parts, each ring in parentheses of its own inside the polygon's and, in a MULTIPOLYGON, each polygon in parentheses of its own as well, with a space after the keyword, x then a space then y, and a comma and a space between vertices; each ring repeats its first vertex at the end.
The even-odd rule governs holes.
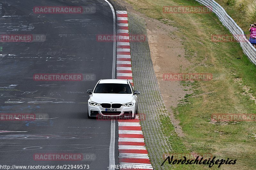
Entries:
MULTIPOLYGON (((126 0, 136 11, 177 27, 175 34, 182 40, 186 58, 192 63, 182 72, 212 73, 211 81, 181 82, 189 86, 193 95, 186 95, 184 103, 173 108, 185 137, 178 137, 168 117, 161 117, 164 134, 173 153, 212 153, 217 159, 237 159, 235 165, 222 165, 221 169, 255 169, 255 122, 227 125, 211 124, 214 113, 256 113, 256 105, 234 81, 241 78, 256 96, 256 66, 244 55, 237 42, 212 42, 212 34, 229 34, 217 16, 210 14, 166 14, 163 6, 199 6, 188 0, 126 0), (172 135, 170 135, 172 134, 172 135), (254 156, 253 156, 254 155, 254 156)), ((233 9, 230 9, 233 10, 233 9)), ((234 15, 236 11, 233 11, 234 15)), ((232 16, 232 15, 231 15, 232 16)), ((236 17, 235 20, 239 18, 236 17)), ((243 18, 240 18, 243 23, 243 18)), ((239 23, 240 24, 240 23, 239 23)), ((245 24, 245 22, 244 22, 245 24)), ((242 28, 246 26, 241 24, 242 28)), ((248 28, 249 29, 249 28, 248 28)), ((168 164, 168 163, 167 163, 168 164)), ((170 169, 173 166, 168 165, 170 169)), ((205 169, 201 165, 175 165, 177 169, 205 169)), ((217 166, 213 166, 217 168, 217 166)))

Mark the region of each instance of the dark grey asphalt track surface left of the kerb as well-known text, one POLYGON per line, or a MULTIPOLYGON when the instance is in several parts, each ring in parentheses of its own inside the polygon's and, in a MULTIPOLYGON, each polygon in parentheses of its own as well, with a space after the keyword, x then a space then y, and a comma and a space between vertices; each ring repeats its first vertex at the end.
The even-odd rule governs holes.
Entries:
MULTIPOLYGON (((87 119, 87 89, 112 78, 113 14, 104 0, 1 0, 0 34, 43 34, 44 42, 0 42, 1 165, 89 165, 108 169, 110 121, 87 119), (95 6, 93 14, 35 14, 35 6, 95 6), (95 74, 93 81, 34 81, 38 73, 95 74), (41 117, 40 117, 41 116, 41 117), (83 161, 35 160, 40 153, 83 154, 83 161)), ((117 129, 117 128, 116 128, 117 129)), ((116 135, 117 139, 117 135, 116 135)), ((115 142, 117 144, 117 141, 115 142)), ((118 161, 117 147, 115 160, 118 161)))

